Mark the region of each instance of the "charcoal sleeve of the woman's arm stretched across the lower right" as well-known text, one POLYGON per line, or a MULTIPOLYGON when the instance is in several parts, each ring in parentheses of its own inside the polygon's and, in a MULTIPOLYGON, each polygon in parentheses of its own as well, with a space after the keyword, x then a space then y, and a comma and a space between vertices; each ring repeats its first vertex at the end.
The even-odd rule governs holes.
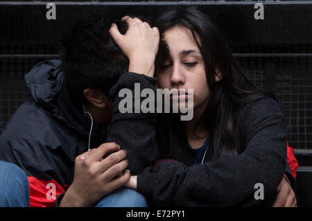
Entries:
POLYGON ((157 206, 271 206, 286 166, 286 121, 272 99, 245 108, 244 152, 190 167, 146 168, 137 191, 157 206))

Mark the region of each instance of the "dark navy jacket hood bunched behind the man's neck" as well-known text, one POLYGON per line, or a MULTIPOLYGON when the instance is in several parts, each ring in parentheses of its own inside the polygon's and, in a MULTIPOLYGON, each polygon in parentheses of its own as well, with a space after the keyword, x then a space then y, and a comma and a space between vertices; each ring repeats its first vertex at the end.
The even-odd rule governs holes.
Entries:
MULTIPOLYGON (((64 84, 60 60, 40 62, 25 75, 25 81, 35 103, 79 134, 89 136, 91 121, 85 117, 83 104, 71 98, 64 84)), ((104 138, 103 125, 94 123, 92 137, 104 138)))

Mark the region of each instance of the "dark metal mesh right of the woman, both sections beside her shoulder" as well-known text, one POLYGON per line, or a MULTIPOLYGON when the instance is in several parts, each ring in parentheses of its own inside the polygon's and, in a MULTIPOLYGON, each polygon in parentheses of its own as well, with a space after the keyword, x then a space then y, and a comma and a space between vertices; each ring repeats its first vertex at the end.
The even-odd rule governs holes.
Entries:
MULTIPOLYGON (((312 149, 312 58, 270 58, 274 63, 273 91, 283 104, 288 142, 295 149, 312 149)), ((246 76, 267 87, 266 59, 239 58, 246 76)))

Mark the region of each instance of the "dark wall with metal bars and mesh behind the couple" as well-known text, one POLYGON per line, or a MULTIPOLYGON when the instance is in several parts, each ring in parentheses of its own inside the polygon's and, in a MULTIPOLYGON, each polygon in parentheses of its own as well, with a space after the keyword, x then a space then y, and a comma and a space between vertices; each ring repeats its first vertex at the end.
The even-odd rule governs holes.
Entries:
POLYGON ((257 1, 51 1, 56 19, 47 20, 49 2, 0 1, 0 132, 29 97, 24 74, 58 58, 58 39, 76 21, 98 14, 155 17, 170 5, 199 5, 223 31, 246 75, 273 89, 283 104, 288 142, 300 163, 301 202, 312 205, 312 1, 261 1, 263 20, 254 19, 257 1))

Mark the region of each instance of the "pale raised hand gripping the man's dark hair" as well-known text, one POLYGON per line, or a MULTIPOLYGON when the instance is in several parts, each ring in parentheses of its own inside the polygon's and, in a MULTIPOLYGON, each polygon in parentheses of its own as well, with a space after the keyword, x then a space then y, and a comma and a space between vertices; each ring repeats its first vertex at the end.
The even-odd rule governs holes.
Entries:
POLYGON ((153 77, 159 45, 158 28, 150 28, 148 23, 138 18, 125 16, 122 20, 128 23, 125 35, 119 32, 116 24, 112 24, 109 31, 121 51, 128 57, 129 71, 153 77))

